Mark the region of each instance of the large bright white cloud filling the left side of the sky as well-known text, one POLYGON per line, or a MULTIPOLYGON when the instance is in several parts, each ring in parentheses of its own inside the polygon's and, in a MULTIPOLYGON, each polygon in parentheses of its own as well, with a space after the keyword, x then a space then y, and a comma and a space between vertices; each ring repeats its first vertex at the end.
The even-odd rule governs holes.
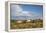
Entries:
POLYGON ((14 16, 31 16, 29 11, 23 11, 19 5, 12 5, 12 14, 14 16))

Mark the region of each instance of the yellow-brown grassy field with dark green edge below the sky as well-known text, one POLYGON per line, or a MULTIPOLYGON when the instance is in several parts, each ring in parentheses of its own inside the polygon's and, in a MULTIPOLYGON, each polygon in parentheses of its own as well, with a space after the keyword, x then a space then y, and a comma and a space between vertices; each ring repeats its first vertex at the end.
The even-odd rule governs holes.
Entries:
POLYGON ((26 22, 27 20, 23 20, 21 23, 17 23, 18 20, 11 20, 10 28, 11 29, 26 29, 26 28, 42 28, 43 20, 36 19, 31 20, 30 22, 26 22))

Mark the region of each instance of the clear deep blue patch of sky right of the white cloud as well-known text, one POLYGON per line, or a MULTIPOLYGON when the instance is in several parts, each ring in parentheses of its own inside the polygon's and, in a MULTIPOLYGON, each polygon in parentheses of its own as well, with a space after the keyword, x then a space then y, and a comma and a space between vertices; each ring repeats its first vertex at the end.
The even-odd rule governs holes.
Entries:
POLYGON ((22 5, 24 11, 34 12, 35 14, 42 15, 43 7, 42 5, 22 5))

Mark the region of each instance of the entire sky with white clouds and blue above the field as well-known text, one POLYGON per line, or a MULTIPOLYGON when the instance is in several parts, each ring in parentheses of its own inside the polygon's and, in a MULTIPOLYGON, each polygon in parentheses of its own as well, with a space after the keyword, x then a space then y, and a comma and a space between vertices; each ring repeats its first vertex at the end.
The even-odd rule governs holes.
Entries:
POLYGON ((10 7, 11 19, 42 19, 43 6, 32 4, 13 4, 10 7))

